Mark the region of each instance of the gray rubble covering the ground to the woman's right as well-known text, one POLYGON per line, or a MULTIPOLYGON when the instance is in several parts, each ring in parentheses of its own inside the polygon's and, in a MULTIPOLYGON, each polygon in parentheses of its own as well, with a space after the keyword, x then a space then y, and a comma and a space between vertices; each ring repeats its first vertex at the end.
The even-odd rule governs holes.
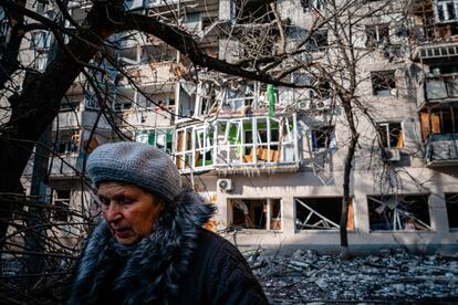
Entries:
POLYGON ((257 252, 248 262, 274 304, 458 301, 458 257, 385 250, 379 255, 341 260, 296 250, 292 255, 257 252))

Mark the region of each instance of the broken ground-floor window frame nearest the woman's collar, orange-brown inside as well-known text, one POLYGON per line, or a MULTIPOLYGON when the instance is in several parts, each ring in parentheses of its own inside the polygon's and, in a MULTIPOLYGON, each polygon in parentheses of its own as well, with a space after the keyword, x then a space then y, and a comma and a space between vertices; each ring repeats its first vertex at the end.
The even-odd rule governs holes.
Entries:
MULTIPOLYGON (((260 203, 260 202, 258 202, 260 203)), ((244 229, 244 230, 256 230, 256 231, 269 231, 269 232, 282 232, 283 231, 283 200, 278 198, 230 198, 228 199, 228 207, 230 207, 229 213, 229 223, 232 225, 237 225, 237 229, 244 229), (250 201, 250 202, 244 202, 250 201), (261 201, 262 203, 262 218, 266 218, 264 225, 257 227, 256 214, 251 213, 252 201, 261 201), (266 201, 266 202, 262 202, 266 201), (244 206, 240 206, 243 203, 244 206), (249 206, 248 206, 249 204, 249 206), (273 214, 274 212, 274 204, 278 204, 278 213, 277 215, 273 214), (248 209, 248 214, 244 211, 244 208, 248 209), (239 209, 243 211, 244 214, 244 223, 243 224, 235 224, 235 210, 239 209)), ((262 218, 260 219, 261 221, 262 218)))

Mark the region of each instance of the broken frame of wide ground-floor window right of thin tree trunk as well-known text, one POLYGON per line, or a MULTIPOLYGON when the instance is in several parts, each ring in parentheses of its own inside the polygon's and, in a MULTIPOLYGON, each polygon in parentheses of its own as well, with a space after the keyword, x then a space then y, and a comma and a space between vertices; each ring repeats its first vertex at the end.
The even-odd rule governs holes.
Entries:
MULTIPOLYGON (((372 194, 367 196, 367 207, 369 212, 369 230, 371 232, 379 232, 379 231, 414 231, 414 232, 429 232, 433 231, 430 224, 421 221, 418 215, 413 214, 413 212, 408 211, 408 206, 416 206, 418 207, 419 203, 417 201, 408 201, 407 199, 414 200, 415 197, 424 197, 426 207, 428 209, 427 215, 428 221, 430 223, 430 214, 429 214, 429 194, 388 194, 388 196, 379 196, 379 194, 372 194), (373 203, 377 203, 377 208, 371 209, 373 203), (379 209, 379 211, 377 211, 379 209), (388 214, 385 213, 388 212, 388 214), (384 215, 382 215, 385 213, 384 215), (374 215, 379 215, 378 218, 385 218, 384 229, 379 229, 381 223, 372 223, 372 219, 374 215), (389 217, 391 219, 387 219, 389 217), (414 230, 406 229, 406 225, 412 219, 414 221, 413 225, 415 224, 414 230), (375 229, 374 229, 375 228, 375 229)), ((420 199, 421 200, 421 199, 420 199)))

